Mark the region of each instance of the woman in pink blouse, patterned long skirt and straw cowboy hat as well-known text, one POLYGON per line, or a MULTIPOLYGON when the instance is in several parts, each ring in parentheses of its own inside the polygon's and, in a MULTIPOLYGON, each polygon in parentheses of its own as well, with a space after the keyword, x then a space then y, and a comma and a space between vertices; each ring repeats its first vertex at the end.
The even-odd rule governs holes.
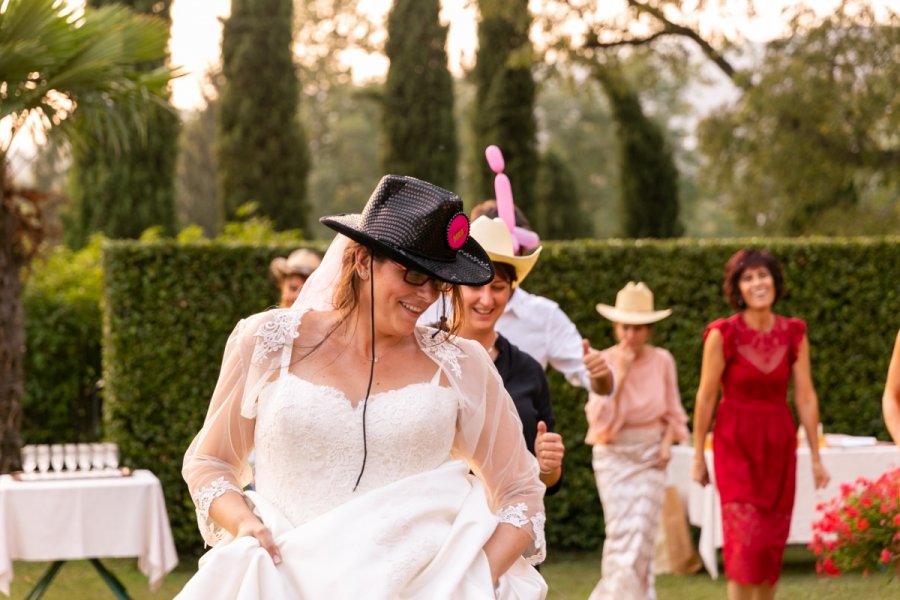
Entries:
MULTIPOLYGON (((609 395, 590 393, 585 406, 594 475, 606 538, 602 577, 590 600, 653 600, 653 554, 674 442, 688 436, 675 359, 650 344, 653 323, 671 313, 654 310, 653 293, 629 282, 615 306, 597 312, 613 323, 615 346, 602 350, 616 373, 609 395)), ((590 349, 584 343, 585 360, 590 349)))

